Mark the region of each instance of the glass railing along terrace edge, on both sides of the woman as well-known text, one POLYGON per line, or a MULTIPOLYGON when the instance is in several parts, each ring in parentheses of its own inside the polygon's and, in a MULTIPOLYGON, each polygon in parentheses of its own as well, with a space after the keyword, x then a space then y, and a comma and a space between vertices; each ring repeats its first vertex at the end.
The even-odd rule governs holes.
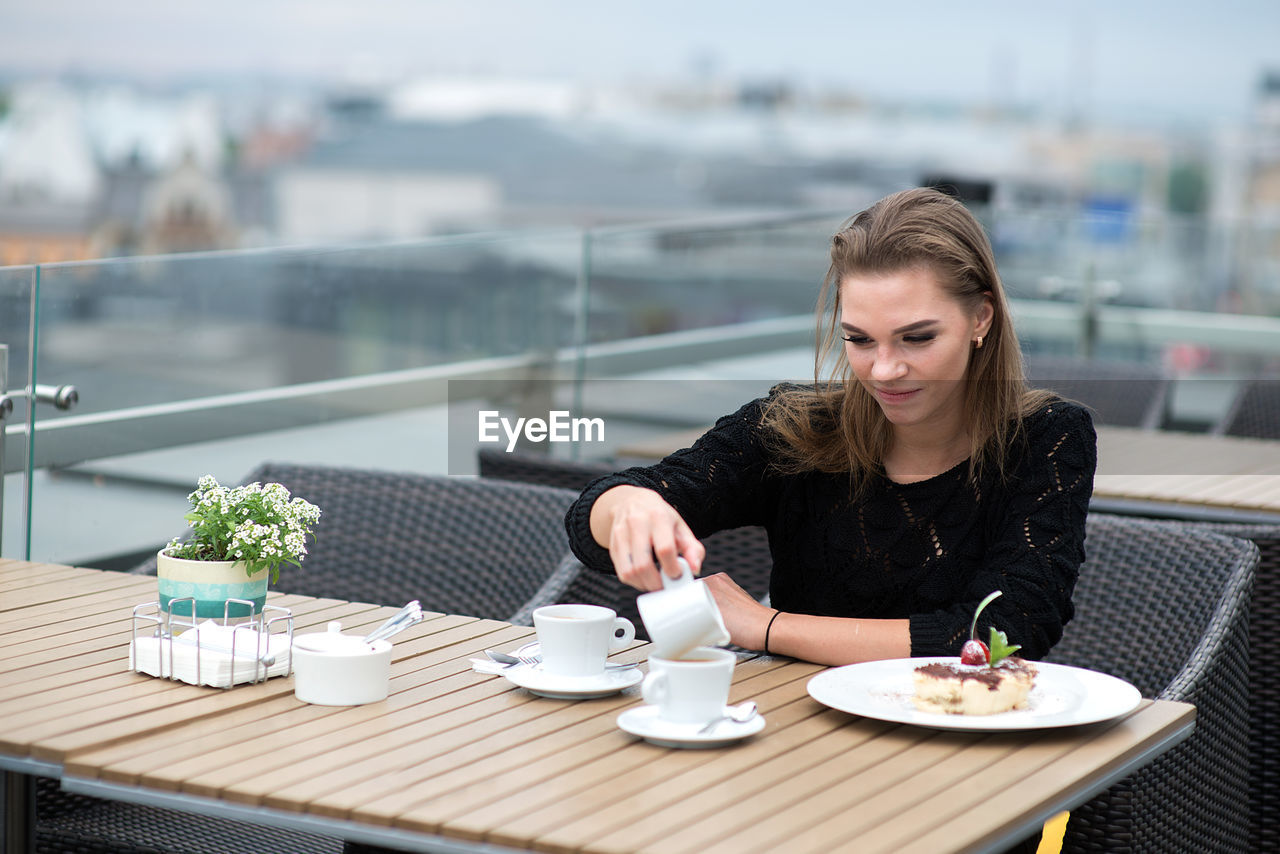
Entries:
MULTIPOLYGON (((1274 232, 1268 243, 1170 219, 982 215, 1029 352, 1183 376, 1280 362, 1280 320, 1266 316, 1280 293, 1274 232), (1240 245, 1261 247, 1248 275, 1224 261, 1240 245)), ((0 553, 128 566, 180 533, 200 475, 236 483, 264 461, 470 474, 483 439, 507 444, 497 419, 483 435, 481 412, 608 414, 617 430, 599 456, 707 424, 812 376, 813 310, 842 219, 0 269, 8 388, 79 396, 63 411, 14 394, 0 553)), ((1221 406, 1188 402, 1185 420, 1221 406)))

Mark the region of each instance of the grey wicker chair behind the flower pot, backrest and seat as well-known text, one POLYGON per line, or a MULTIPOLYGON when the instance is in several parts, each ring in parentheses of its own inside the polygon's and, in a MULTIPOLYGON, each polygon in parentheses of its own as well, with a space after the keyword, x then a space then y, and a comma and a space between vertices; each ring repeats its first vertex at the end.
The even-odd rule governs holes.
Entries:
MULTIPOLYGON (((321 510, 301 570, 282 593, 399 606, 532 625, 575 580, 564 561, 572 492, 531 484, 266 463, 244 483, 275 481, 321 510), (557 565, 559 568, 557 570, 557 565)), ((134 572, 155 574, 155 558, 134 572)), ((229 854, 343 850, 339 839, 104 802, 36 780, 41 854, 229 854)))

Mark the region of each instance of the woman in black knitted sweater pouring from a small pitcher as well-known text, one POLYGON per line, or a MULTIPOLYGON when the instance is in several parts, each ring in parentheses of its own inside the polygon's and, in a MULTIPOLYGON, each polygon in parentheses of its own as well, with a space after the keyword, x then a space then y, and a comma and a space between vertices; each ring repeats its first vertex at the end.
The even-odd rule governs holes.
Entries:
POLYGON ((677 556, 699 570, 699 536, 763 525, 771 604, 707 579, 740 647, 823 665, 957 654, 998 589, 979 636, 995 625, 1042 657, 1071 618, 1096 437, 1080 406, 1025 387, 982 227, 933 189, 858 214, 832 239, 819 337, 814 387, 590 484, 566 517, 575 553, 653 590, 677 556))

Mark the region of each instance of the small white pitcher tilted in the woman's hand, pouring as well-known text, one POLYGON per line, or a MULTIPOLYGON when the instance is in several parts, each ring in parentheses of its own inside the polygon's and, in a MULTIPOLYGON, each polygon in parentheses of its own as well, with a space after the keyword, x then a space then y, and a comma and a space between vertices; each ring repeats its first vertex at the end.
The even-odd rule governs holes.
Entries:
POLYGON ((653 656, 684 658, 696 647, 728 643, 728 630, 721 617, 716 597, 703 581, 695 580, 685 558, 680 561, 678 579, 662 574, 662 590, 636 597, 653 656))

